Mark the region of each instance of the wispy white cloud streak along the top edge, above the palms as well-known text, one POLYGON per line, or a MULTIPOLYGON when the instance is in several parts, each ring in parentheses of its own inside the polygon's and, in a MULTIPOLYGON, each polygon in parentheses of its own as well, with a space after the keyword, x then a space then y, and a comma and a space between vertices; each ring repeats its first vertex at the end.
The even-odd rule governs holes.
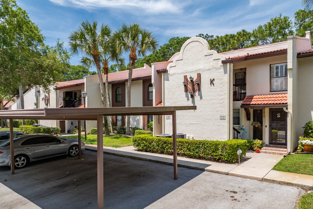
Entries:
MULTIPOLYGON (((66 7, 82 9, 121 8, 128 11, 144 10, 148 13, 178 13, 180 8, 169 0, 49 0, 66 7)), ((138 11, 137 11, 138 12, 138 11)))

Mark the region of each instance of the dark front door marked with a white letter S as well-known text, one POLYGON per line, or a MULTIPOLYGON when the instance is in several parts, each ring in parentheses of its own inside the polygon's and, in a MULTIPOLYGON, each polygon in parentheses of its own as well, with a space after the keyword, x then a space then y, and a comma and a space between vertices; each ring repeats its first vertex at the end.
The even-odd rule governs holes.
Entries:
POLYGON ((269 109, 269 144, 287 145, 287 117, 283 109, 269 109))

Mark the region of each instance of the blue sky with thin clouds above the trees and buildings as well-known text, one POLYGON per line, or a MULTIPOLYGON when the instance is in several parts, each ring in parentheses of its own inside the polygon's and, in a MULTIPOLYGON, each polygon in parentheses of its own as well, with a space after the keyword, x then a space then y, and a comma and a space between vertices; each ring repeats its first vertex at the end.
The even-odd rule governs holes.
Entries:
MULTIPOLYGON (((113 30, 122 23, 139 23, 162 45, 174 36, 252 31, 280 13, 293 20, 301 8, 301 0, 17 0, 17 4, 42 29, 49 45, 57 38, 67 45, 69 33, 85 19, 109 24, 113 30)), ((78 65, 79 59, 74 56, 71 64, 78 65)))

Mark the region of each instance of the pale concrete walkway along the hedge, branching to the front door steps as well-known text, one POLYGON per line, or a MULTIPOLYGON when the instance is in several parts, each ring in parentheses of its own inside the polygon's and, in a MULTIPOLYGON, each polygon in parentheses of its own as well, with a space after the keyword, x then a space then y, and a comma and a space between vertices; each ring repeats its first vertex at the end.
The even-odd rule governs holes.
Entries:
MULTIPOLYGON (((97 145, 88 144, 86 145, 86 149, 91 151, 97 151, 97 145)), ((136 151, 133 146, 121 148, 104 146, 103 153, 162 163, 166 165, 173 165, 172 155, 140 152, 136 151)), ((248 151, 246 153, 246 157, 249 157, 250 159, 238 165, 238 163, 217 163, 208 160, 192 159, 178 156, 177 164, 180 167, 204 170, 208 172, 254 179, 259 181, 266 181, 281 185, 296 186, 304 190, 313 189, 312 175, 271 170, 274 165, 276 165, 281 159, 283 159, 282 155, 263 154, 248 151)))

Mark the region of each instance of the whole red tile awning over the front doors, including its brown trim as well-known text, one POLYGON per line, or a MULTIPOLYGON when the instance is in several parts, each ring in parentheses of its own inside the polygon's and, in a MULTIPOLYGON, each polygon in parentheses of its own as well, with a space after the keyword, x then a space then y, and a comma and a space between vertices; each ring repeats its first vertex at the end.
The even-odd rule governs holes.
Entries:
POLYGON ((287 94, 249 95, 241 107, 287 107, 287 94))

